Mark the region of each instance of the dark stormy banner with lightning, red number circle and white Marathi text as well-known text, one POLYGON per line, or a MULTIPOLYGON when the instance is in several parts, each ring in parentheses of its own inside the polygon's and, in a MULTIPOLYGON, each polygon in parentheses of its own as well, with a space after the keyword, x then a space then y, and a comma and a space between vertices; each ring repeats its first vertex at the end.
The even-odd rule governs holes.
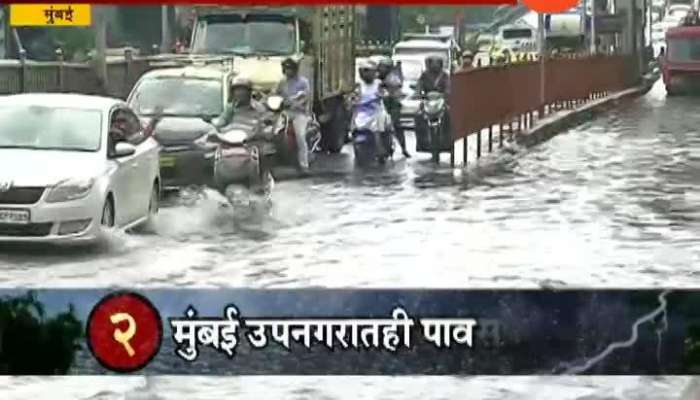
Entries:
POLYGON ((0 299, 2 374, 700 369, 700 290, 47 289, 0 299))

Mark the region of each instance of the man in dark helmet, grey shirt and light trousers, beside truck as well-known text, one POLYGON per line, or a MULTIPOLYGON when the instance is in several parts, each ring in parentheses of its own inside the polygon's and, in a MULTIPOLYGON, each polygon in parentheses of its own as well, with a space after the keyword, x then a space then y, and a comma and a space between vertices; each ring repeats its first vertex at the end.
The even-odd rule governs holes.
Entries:
POLYGON ((309 172, 309 154, 306 144, 306 131, 310 122, 309 98, 311 97, 311 85, 308 79, 299 75, 299 63, 292 58, 282 61, 282 71, 285 78, 277 87, 277 94, 284 98, 285 106, 297 140, 297 157, 299 168, 303 175, 309 172))

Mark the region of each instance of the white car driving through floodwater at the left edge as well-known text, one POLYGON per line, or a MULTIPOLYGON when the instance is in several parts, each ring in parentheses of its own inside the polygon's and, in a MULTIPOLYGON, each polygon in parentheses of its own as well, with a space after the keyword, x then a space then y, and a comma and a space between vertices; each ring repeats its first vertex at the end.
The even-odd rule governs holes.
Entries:
POLYGON ((0 242, 94 241, 150 221, 158 152, 119 99, 0 97, 0 242))

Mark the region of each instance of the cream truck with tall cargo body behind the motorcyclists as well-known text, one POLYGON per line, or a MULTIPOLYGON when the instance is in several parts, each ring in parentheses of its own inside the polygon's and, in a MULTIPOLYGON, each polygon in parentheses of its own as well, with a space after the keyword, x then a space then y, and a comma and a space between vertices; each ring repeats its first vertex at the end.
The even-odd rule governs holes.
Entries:
POLYGON ((236 74, 256 95, 283 79, 285 58, 299 62, 312 87, 312 110, 322 127, 321 147, 339 152, 350 123, 346 95, 355 82, 355 6, 196 6, 191 54, 231 56, 236 74))

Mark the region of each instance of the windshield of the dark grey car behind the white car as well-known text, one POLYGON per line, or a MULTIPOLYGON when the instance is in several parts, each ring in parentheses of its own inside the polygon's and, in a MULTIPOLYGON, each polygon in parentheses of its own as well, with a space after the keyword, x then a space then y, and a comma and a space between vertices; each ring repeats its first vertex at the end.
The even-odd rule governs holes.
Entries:
POLYGON ((165 115, 215 117, 224 109, 222 82, 184 77, 147 79, 136 89, 132 107, 143 116, 153 115, 161 107, 165 115))

